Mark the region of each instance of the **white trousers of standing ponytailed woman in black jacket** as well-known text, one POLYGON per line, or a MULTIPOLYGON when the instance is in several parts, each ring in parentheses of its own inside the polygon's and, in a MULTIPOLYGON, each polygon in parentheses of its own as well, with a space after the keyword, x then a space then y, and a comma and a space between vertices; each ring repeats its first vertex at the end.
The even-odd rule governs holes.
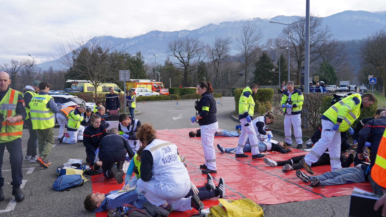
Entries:
POLYGON ((215 133, 218 129, 218 122, 208 125, 201 125, 201 144, 204 150, 205 165, 209 170, 217 170, 216 167, 216 155, 215 148, 213 147, 213 141, 215 139, 215 133))

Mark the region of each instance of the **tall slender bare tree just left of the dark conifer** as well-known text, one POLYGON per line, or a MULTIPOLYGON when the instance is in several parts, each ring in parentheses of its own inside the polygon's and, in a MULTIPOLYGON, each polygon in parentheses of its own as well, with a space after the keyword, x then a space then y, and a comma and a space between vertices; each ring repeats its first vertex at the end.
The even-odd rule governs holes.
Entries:
POLYGON ((244 86, 247 86, 247 68, 253 64, 256 47, 262 41, 263 36, 264 34, 261 29, 258 29, 256 24, 249 21, 242 26, 240 35, 236 36, 238 44, 235 45, 235 49, 241 53, 241 55, 237 56, 236 60, 245 69, 244 86))

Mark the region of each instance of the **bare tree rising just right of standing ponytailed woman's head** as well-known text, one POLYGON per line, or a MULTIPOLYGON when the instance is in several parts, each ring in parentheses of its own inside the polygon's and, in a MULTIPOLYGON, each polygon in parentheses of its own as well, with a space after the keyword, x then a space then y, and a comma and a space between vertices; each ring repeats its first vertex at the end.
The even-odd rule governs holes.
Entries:
POLYGON ((232 37, 215 37, 215 41, 212 46, 207 46, 207 54, 216 70, 215 83, 213 88, 220 88, 220 66, 222 63, 230 57, 230 46, 232 45, 232 37))

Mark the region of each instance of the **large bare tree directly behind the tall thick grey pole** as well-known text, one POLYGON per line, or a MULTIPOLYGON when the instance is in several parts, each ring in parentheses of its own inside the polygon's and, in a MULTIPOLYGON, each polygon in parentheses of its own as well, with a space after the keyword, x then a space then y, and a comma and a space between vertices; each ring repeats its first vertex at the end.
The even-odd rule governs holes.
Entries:
MULTIPOLYGON (((298 20, 303 20, 300 17, 298 20)), ((288 47, 288 34, 291 33, 289 53, 291 60, 295 64, 290 64, 292 71, 295 72, 296 83, 300 83, 300 67, 305 59, 305 20, 297 22, 288 27, 284 27, 281 33, 281 39, 276 39, 276 46, 284 49, 288 47), (289 32, 288 32, 289 31, 289 32), (286 40, 284 40, 286 39, 286 40)), ((310 17, 310 65, 317 60, 329 58, 336 68, 341 68, 345 55, 343 47, 339 47, 339 42, 332 39, 332 34, 328 25, 323 26, 322 17, 310 17)), ((291 63, 291 61, 290 61, 291 63)))

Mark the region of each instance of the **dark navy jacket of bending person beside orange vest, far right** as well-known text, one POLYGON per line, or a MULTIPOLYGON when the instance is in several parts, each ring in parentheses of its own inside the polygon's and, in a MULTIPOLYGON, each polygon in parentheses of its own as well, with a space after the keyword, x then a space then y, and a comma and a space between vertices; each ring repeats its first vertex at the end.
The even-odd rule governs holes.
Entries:
POLYGON ((381 142, 385 128, 385 116, 367 122, 367 124, 361 129, 361 131, 359 131, 357 153, 363 153, 364 143, 367 141, 368 138, 370 138, 371 143, 370 153, 377 153, 379 142, 381 142))

